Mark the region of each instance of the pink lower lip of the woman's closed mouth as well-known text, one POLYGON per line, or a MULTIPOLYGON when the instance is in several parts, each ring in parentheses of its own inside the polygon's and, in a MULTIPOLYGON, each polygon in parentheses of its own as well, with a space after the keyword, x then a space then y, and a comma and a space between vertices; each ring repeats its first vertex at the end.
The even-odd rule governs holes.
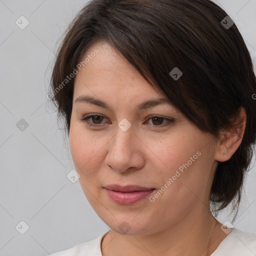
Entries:
POLYGON ((149 195, 154 189, 150 190, 144 190, 144 191, 134 191, 134 192, 119 192, 119 191, 113 191, 110 189, 106 189, 106 192, 108 196, 118 204, 133 204, 147 195, 149 195))

